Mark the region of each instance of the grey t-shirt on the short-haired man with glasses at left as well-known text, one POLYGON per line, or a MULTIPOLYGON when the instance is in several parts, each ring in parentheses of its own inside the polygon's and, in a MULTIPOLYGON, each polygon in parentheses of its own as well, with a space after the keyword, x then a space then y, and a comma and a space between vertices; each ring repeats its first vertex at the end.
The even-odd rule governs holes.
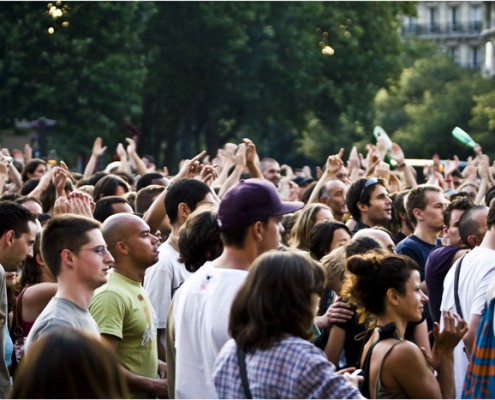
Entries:
POLYGON ((60 328, 73 328, 100 337, 98 324, 88 310, 70 300, 53 297, 29 331, 25 350, 43 335, 60 328))

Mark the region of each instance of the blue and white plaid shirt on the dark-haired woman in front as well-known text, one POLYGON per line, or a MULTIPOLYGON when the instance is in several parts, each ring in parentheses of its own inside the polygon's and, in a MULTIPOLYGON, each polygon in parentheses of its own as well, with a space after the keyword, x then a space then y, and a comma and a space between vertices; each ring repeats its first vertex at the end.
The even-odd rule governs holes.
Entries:
MULTIPOLYGON (((215 362, 215 387, 219 398, 245 399, 237 347, 233 339, 215 362)), ((355 399, 359 390, 335 373, 325 354, 307 340, 290 336, 268 350, 246 354, 246 372, 253 398, 355 399)))

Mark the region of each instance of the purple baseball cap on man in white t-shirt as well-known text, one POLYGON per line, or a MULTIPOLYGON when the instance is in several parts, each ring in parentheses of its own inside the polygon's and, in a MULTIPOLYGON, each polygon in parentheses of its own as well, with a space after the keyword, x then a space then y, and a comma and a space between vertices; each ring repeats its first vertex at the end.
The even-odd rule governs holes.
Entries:
POLYGON ((218 225, 220 229, 242 228, 303 207, 301 201, 281 201, 275 185, 266 179, 245 179, 228 190, 220 201, 218 225))

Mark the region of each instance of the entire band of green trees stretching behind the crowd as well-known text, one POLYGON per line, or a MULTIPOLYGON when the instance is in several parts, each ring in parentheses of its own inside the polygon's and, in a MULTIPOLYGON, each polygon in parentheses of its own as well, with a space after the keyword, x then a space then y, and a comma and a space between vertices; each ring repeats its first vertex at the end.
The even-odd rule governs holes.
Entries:
POLYGON ((72 164, 96 136, 114 149, 130 120, 139 152, 172 172, 243 137, 262 156, 322 163, 368 142, 375 124, 410 156, 468 154, 451 139, 456 125, 491 146, 493 81, 402 40, 400 16, 413 12, 408 2, 6 3, 0 126, 57 120, 48 145, 72 164))

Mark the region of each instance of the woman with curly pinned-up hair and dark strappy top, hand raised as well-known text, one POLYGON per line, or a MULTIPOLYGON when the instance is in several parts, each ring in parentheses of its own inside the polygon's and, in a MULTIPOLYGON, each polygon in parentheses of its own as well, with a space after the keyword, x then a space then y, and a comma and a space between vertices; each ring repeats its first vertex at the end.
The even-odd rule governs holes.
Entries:
POLYGON ((466 322, 444 313, 444 330, 435 323, 435 344, 427 360, 416 344, 404 339, 408 321, 420 321, 428 301, 417 263, 406 256, 368 253, 349 258, 347 270, 344 296, 357 307, 360 321, 373 328, 361 356, 363 395, 454 398, 452 351, 467 331, 466 322))

